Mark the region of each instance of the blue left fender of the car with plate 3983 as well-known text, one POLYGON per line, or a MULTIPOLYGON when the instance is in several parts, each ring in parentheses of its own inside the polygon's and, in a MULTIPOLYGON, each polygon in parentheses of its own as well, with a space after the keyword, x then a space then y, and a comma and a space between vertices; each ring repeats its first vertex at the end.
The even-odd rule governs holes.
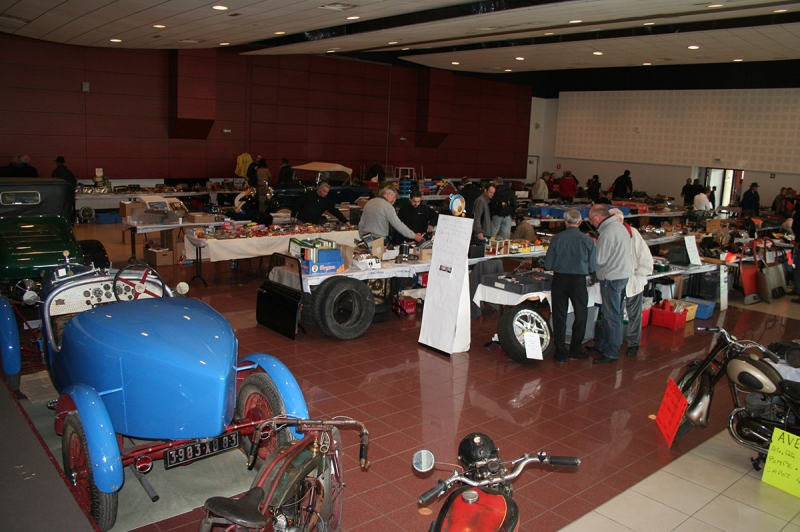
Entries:
MULTIPOLYGON (((72 405, 81 417, 97 489, 104 493, 119 491, 125 480, 125 472, 119 455, 117 435, 103 399, 91 386, 75 384, 61 394, 58 410, 69 404, 69 401, 64 401, 65 396, 72 400, 72 405)), ((65 412, 58 411, 56 416, 63 419, 64 414, 65 412)))

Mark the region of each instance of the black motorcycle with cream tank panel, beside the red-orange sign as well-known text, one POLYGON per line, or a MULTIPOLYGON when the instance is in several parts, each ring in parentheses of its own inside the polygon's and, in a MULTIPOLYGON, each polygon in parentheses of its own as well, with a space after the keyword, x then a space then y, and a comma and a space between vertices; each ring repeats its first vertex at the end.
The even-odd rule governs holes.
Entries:
POLYGON ((758 453, 750 461, 756 470, 766 459, 773 429, 800 436, 800 383, 785 380, 763 357, 779 362, 766 347, 739 341, 719 327, 698 328, 717 332, 714 347, 704 360, 694 360, 678 379, 678 388, 689 403, 678 436, 692 428, 708 426, 714 387, 728 376, 734 409, 728 416, 728 431, 739 445, 758 453), (750 352, 748 352, 750 351, 750 352))

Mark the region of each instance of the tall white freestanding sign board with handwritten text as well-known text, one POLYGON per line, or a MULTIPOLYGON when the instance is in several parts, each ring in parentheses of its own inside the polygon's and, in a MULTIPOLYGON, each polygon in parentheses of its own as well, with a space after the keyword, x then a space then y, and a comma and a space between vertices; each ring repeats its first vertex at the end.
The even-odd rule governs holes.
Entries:
POLYGON ((469 350, 467 256, 471 237, 472 219, 439 217, 419 343, 448 354, 469 350))

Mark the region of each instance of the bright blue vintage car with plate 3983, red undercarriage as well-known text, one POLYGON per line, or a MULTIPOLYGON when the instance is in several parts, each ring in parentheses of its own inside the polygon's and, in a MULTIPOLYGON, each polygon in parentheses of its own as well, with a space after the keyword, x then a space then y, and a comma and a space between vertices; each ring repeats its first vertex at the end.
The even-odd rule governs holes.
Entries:
MULTIPOLYGON (((55 431, 64 472, 101 530, 116 520, 124 467, 147 489, 142 475, 155 460, 169 469, 249 450, 259 422, 284 413, 308 417, 285 365, 263 353, 237 361, 225 318, 173 293, 155 270, 65 262, 44 276, 39 294, 23 299, 40 310, 42 354, 59 393, 55 431), (126 447, 130 438, 138 443, 126 447)), ((0 296, 6 375, 20 371, 14 304, 0 296)), ((282 431, 262 442, 258 457, 296 436, 282 431)))

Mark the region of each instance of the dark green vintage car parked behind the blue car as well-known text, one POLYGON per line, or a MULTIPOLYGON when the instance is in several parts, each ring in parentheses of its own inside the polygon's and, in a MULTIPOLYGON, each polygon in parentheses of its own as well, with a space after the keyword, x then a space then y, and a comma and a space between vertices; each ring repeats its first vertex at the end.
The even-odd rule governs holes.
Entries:
POLYGON ((48 268, 70 262, 109 266, 103 245, 72 233, 74 188, 61 179, 0 179, 0 293, 36 289, 48 268))

